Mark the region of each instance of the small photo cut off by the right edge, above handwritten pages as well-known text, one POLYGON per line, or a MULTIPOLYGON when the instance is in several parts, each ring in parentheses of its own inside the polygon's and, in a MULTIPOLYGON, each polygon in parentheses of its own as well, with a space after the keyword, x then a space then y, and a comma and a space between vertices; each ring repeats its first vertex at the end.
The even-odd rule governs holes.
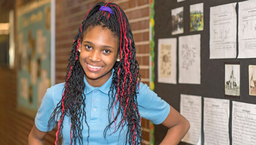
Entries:
POLYGON ((249 94, 256 96, 256 65, 249 65, 249 94))

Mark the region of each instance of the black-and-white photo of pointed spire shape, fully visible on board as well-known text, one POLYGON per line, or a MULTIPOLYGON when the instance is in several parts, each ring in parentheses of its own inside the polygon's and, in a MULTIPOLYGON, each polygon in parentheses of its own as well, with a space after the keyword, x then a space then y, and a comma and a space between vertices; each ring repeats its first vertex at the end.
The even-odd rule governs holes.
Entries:
POLYGON ((225 62, 225 97, 232 96, 240 97, 240 62, 225 62))

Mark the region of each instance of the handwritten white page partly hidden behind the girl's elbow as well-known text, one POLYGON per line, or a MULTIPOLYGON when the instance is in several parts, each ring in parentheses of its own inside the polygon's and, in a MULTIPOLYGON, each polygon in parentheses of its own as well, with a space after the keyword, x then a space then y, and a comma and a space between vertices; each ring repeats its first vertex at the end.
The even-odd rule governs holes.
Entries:
MULTIPOLYGON (((198 144, 201 142, 202 97, 181 94, 181 115, 190 122, 190 130, 181 141, 198 144)), ((201 144, 201 143, 200 143, 201 144)))

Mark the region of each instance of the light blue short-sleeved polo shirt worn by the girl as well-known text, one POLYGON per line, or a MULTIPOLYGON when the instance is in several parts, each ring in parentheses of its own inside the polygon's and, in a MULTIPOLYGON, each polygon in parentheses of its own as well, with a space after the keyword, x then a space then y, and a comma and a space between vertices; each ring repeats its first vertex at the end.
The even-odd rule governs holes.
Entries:
MULTIPOLYGON (((84 77, 86 89, 86 121, 90 127, 89 144, 125 144, 126 142, 126 126, 123 130, 115 130, 114 125, 107 131, 106 138, 103 137, 103 131, 108 122, 108 102, 109 102, 109 87, 111 86, 112 75, 100 87, 92 87, 87 83, 84 77), (119 136, 119 137, 118 137, 119 136)), ((57 124, 57 116, 55 122, 51 122, 50 128, 47 130, 48 120, 51 113, 57 106, 57 103, 62 99, 64 83, 56 84, 47 89, 38 113, 35 117, 35 125, 40 131, 50 131, 54 125, 57 124)), ((157 96, 147 84, 139 84, 139 93, 137 94, 139 114, 142 118, 149 119, 154 124, 161 124, 166 119, 170 112, 170 106, 164 100, 157 96)), ((117 109, 114 108, 114 114, 117 109)), ((112 111, 111 111, 112 113, 112 111)), ((112 115, 111 115, 112 116, 112 115)), ((111 118, 112 121, 112 118, 111 118)), ((120 116, 117 122, 120 121, 120 116)), ((70 135, 71 121, 68 116, 65 116, 63 121, 63 144, 69 145, 71 143, 70 135)), ((85 120, 83 120, 83 143, 87 144, 88 127, 85 120)), ((78 144, 78 143, 77 143, 78 144)))

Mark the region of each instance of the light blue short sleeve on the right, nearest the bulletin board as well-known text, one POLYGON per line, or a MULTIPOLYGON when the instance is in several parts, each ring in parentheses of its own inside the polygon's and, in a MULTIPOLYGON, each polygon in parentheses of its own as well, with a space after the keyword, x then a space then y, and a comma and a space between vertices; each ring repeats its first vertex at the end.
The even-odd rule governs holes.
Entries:
POLYGON ((161 124, 169 115, 170 105, 150 90, 147 84, 139 84, 137 101, 141 117, 153 124, 161 124))

